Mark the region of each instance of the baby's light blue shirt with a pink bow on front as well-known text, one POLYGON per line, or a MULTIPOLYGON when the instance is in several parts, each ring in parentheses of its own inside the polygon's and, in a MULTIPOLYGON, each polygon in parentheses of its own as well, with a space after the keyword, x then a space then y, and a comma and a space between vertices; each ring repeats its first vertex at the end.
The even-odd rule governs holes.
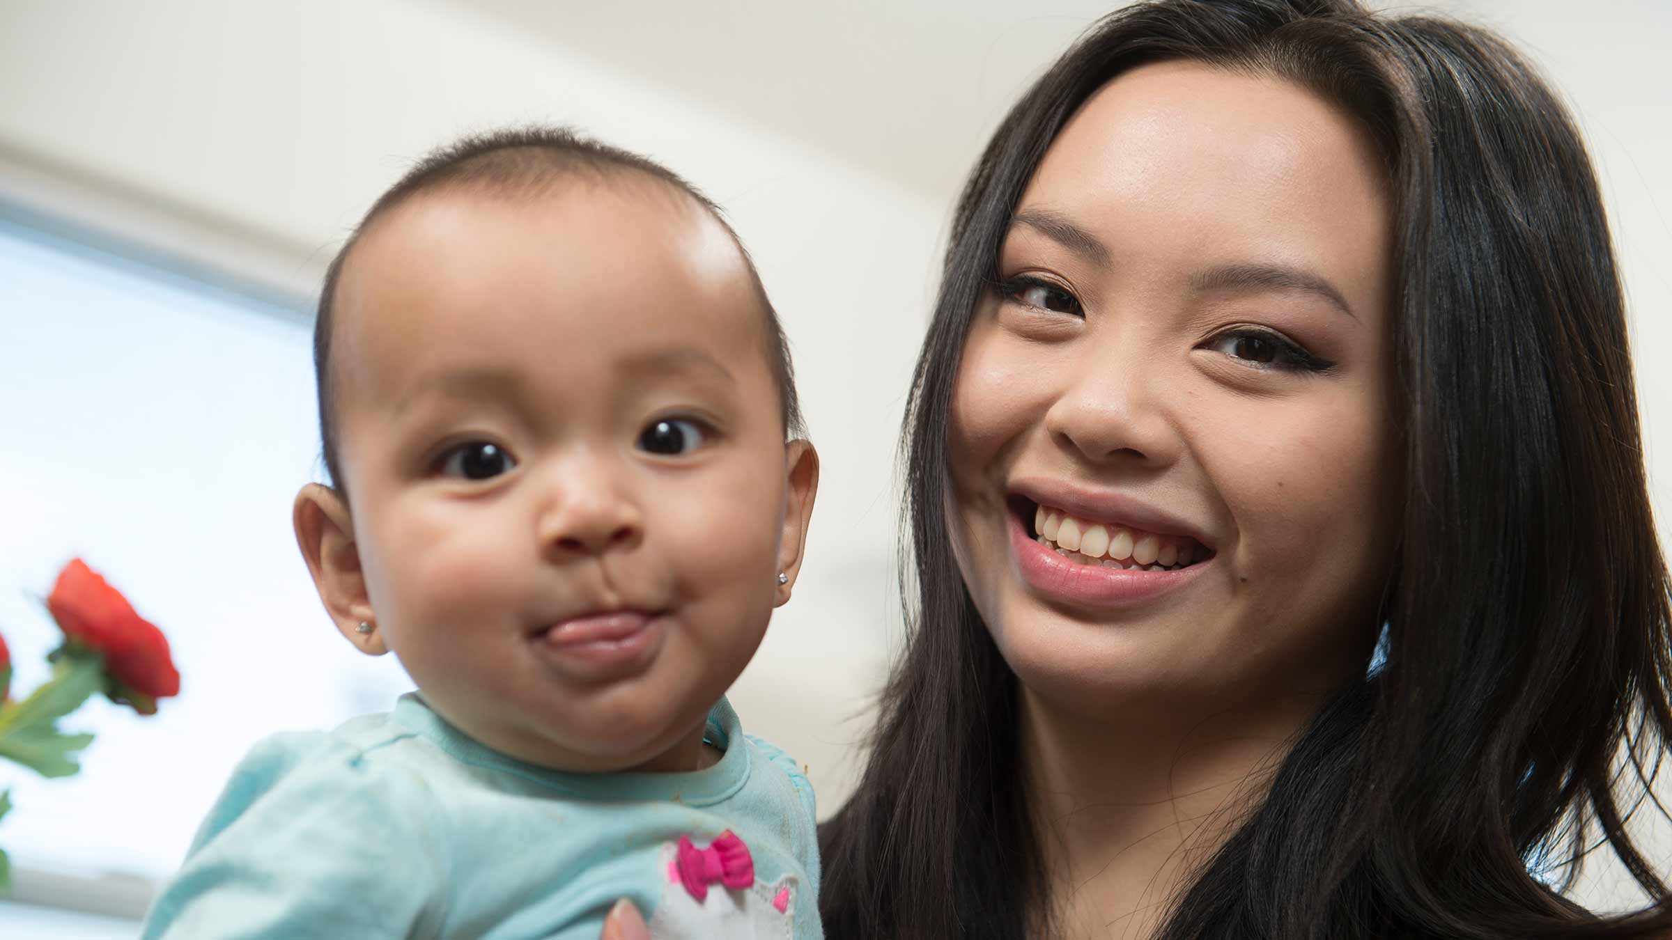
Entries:
POLYGON ((823 937, 811 784, 726 701, 707 734, 724 756, 704 771, 572 774, 492 751, 408 694, 331 733, 269 738, 144 937, 599 940, 617 898, 654 937, 823 937), (726 830, 754 886, 714 883, 699 902, 674 845, 726 830))

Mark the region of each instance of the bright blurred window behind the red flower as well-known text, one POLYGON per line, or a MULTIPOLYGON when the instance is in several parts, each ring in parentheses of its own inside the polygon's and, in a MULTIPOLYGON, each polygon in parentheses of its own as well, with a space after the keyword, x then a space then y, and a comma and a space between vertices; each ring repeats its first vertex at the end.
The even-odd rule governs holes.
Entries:
POLYGON ((319 463, 309 341, 303 309, 0 212, 12 696, 47 676, 60 636, 40 597, 72 557, 162 627, 182 676, 155 716, 95 699, 64 721, 97 733, 79 776, 0 761, 13 801, 0 848, 23 870, 20 888, 42 883, 28 871, 117 875, 149 895, 144 881, 179 865, 256 739, 331 728, 411 687, 393 657, 338 636, 291 535, 291 498, 319 463))

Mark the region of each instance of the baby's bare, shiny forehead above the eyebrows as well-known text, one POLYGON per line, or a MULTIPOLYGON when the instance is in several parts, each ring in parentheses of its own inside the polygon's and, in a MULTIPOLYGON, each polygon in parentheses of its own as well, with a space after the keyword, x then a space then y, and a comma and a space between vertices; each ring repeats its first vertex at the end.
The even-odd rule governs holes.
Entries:
POLYGON ((413 196, 364 231, 334 308, 339 363, 395 373, 485 331, 550 341, 555 318, 584 335, 587 318, 570 318, 585 308, 620 321, 617 351, 699 330, 759 356, 769 316, 731 231, 659 181, 413 196))

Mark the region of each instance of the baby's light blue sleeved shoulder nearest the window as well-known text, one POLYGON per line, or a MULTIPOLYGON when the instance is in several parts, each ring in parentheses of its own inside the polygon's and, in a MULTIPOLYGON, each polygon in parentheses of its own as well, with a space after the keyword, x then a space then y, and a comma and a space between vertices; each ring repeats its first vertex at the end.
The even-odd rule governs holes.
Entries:
POLYGON ((436 935, 446 813, 376 718, 273 734, 234 768, 157 897, 145 937, 301 937, 324 923, 436 935))

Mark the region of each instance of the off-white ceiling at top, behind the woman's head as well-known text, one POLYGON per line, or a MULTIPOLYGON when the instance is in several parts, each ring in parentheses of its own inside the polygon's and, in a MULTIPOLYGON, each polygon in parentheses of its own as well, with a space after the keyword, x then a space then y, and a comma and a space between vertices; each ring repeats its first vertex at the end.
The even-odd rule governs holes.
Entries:
MULTIPOLYGON (((701 97, 938 204, 953 197, 1027 82, 1119 7, 1119 0, 448 2, 532 32, 565 54, 701 97)), ((1505 30, 1553 67, 1558 82, 1570 60, 1580 75, 1593 62, 1627 65, 1610 59, 1620 40, 1672 42, 1669 0, 1374 5, 1455 12, 1505 30)), ((1664 72, 1657 77, 1665 82, 1664 72)))

